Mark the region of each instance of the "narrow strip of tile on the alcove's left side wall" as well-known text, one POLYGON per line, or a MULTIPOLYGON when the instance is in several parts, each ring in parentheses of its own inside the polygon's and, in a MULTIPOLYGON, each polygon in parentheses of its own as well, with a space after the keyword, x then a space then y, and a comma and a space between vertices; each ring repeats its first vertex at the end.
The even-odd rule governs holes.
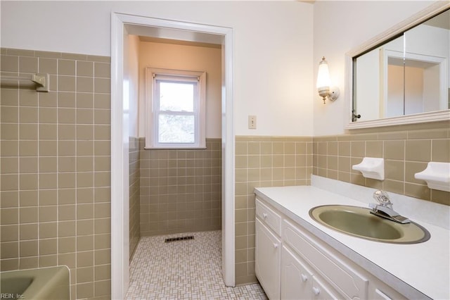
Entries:
POLYGON ((129 259, 133 257, 141 238, 139 227, 139 138, 129 137, 129 259))

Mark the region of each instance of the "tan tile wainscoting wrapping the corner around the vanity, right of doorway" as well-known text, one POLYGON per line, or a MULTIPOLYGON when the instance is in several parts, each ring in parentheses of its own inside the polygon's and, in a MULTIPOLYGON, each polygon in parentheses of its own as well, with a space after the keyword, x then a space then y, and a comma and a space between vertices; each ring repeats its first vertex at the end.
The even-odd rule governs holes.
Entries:
POLYGON ((256 282, 255 187, 310 185, 311 174, 450 205, 450 193, 428 189, 414 173, 428 161, 450 162, 448 122, 375 128, 327 137, 236 137, 236 284, 256 282), (352 165, 385 158, 381 182, 352 165))

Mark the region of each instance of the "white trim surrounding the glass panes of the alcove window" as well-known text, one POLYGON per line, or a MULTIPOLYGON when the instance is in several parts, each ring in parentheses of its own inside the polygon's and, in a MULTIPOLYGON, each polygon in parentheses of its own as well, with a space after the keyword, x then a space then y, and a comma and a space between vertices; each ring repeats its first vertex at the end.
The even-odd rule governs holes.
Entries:
MULTIPOLYGON (((194 104, 194 111, 196 104, 194 104)), ((206 72, 188 71, 188 70, 171 70, 160 68, 146 68, 146 146, 145 149, 206 149, 206 72), (160 144, 157 141, 158 132, 154 128, 155 113, 153 110, 153 94, 154 94, 154 75, 158 76, 179 76, 179 77, 197 77, 200 84, 200 104, 198 107, 198 117, 195 126, 199 126, 199 130, 195 131, 195 142, 186 143, 165 143, 160 144)))

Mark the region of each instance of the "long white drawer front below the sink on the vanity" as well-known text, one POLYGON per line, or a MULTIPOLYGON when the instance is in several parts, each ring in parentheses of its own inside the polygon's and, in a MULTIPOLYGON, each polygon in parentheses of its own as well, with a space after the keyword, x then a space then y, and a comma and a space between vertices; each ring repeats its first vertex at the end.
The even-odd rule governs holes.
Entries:
POLYGON ((348 263, 330 254, 328 249, 315 242, 287 220, 283 221, 283 241, 311 265, 314 265, 317 270, 326 271, 326 273, 319 273, 349 299, 367 298, 368 280, 366 277, 357 273, 348 263))

